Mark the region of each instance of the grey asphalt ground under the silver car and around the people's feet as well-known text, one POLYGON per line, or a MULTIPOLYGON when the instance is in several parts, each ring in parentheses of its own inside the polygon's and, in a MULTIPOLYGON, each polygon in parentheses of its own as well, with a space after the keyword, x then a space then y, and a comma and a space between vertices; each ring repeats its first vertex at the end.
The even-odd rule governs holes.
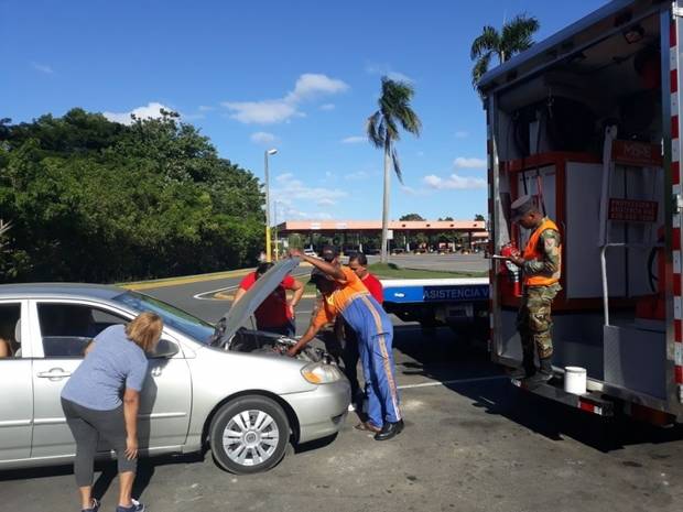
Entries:
MULTIPOLYGON (((195 293, 150 293, 177 294, 209 319, 226 309, 188 298, 216 283, 184 286, 195 293)), ((300 307, 300 333, 311 306, 300 307)), ((447 328, 423 333, 397 322, 394 356, 406 421, 397 438, 375 442, 353 428, 358 417, 349 413, 336 438, 290 449, 262 475, 226 473, 210 453, 143 460, 137 493, 165 512, 682 509, 683 428, 606 423, 530 396, 488 361, 485 345, 447 328)), ((99 469, 96 490, 102 510, 112 510, 115 466, 99 469)), ((0 503, 3 511, 78 510, 72 468, 0 473, 0 503)))

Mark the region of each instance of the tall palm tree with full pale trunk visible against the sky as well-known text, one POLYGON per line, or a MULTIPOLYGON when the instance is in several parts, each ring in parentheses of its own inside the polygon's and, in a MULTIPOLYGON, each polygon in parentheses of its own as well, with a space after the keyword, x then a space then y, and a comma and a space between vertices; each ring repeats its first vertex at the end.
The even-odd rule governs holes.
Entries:
POLYGON ((380 261, 387 263, 387 231, 389 227, 389 192, 391 167, 399 182, 403 183, 401 165, 394 143, 400 140, 399 126, 409 133, 420 137, 422 122, 410 106, 415 94, 413 86, 405 81, 382 77, 382 94, 378 100, 379 110, 368 118, 368 139, 376 148, 384 150, 384 199, 382 206, 382 242, 380 261))

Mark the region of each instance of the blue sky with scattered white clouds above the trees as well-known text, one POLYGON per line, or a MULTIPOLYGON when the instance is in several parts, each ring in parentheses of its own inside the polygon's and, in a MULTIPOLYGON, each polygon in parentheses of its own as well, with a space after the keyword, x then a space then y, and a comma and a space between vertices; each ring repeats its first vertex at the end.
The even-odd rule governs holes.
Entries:
POLYGON ((126 120, 165 106, 261 178, 278 148, 278 220, 379 219, 382 154, 364 123, 389 75, 413 84, 423 122, 398 145, 391 218, 471 219, 486 213, 471 41, 522 12, 540 41, 604 3, 0 0, 0 118, 83 107, 126 120))

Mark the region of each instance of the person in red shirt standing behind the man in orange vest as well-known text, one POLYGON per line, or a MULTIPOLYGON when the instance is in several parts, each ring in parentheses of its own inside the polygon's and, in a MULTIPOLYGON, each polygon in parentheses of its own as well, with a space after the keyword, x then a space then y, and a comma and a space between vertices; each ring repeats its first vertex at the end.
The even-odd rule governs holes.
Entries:
MULTIPOLYGON (((360 282, 368 288, 370 295, 381 306, 384 302, 384 290, 382 283, 368 271, 368 258, 362 252, 356 252, 348 259, 348 266, 360 279, 360 282)), ((367 392, 360 391, 360 383, 358 382, 358 361, 360 360, 360 352, 358 350, 358 338, 356 331, 351 329, 342 317, 339 317, 337 325, 335 325, 335 331, 337 333, 337 339, 342 346, 342 360, 344 361, 344 373, 351 384, 351 408, 360 411, 362 408, 362 402, 367 392)), ((366 381, 369 378, 366 375, 366 381)), ((368 383, 366 382, 366 390, 368 383)))

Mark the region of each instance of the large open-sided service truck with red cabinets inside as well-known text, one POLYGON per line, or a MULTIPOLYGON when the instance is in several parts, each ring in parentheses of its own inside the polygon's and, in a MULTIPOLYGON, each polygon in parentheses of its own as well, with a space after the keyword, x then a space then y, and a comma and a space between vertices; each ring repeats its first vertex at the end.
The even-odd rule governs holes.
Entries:
MULTIPOLYGON (((560 226, 555 379, 532 390, 595 414, 683 421, 683 2, 612 1, 487 73, 492 248, 523 248, 523 194, 560 226), (563 388, 587 371, 585 393, 563 388)), ((521 361, 519 275, 491 260, 492 357, 521 361)), ((523 385, 520 382, 517 382, 523 385)))

